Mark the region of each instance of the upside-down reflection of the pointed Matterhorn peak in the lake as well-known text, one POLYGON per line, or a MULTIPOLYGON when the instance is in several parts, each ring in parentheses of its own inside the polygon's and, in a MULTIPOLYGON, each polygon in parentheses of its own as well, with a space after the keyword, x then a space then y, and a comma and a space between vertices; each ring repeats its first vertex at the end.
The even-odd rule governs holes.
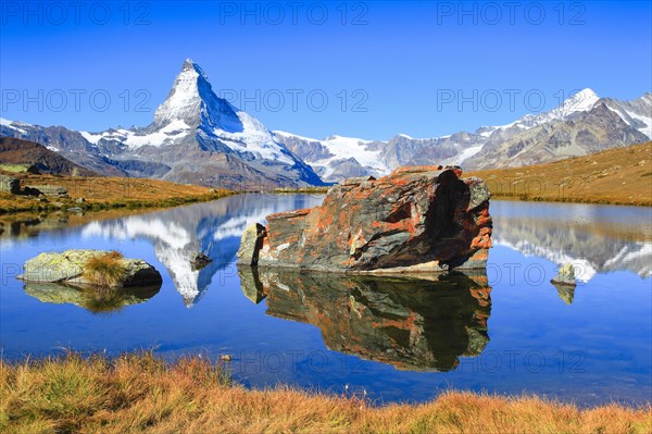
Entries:
POLYGON ((242 231, 267 214, 294 208, 312 207, 314 196, 238 195, 213 202, 197 203, 171 210, 118 220, 92 222, 84 236, 116 239, 147 239, 167 269, 187 307, 198 302, 213 276, 233 262, 242 231), (211 259, 198 270, 191 261, 198 252, 211 259))

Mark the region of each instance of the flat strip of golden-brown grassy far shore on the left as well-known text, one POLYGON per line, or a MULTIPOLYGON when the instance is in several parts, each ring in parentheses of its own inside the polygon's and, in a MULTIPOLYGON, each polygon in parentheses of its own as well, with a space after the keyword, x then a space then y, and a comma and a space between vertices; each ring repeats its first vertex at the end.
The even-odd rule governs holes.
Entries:
POLYGON ((58 185, 66 187, 68 199, 48 198, 38 201, 34 196, 0 194, 0 213, 52 210, 79 207, 100 210, 109 208, 171 207, 212 200, 233 191, 211 189, 197 185, 183 185, 159 179, 124 177, 87 177, 62 175, 35 175, 8 173, 21 179, 21 186, 58 185), (83 203, 75 199, 84 198, 83 203))

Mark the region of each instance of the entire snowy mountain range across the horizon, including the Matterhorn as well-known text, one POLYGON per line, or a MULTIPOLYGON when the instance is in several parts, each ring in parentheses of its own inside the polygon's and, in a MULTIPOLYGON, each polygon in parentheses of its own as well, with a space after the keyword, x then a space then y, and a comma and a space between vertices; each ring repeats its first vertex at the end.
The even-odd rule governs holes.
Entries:
POLYGON ((521 166, 644 142, 652 138, 652 94, 619 101, 584 89, 554 110, 443 137, 319 140, 271 132, 218 98, 201 67, 186 60, 146 127, 88 133, 0 120, 0 136, 42 144, 104 175, 269 189, 380 176, 400 165, 521 166))

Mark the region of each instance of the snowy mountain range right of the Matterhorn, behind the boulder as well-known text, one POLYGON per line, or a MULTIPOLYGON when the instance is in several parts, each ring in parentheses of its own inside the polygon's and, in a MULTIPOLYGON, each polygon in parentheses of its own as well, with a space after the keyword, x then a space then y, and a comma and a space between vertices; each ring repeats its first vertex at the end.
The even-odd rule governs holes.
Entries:
POLYGON ((560 107, 507 125, 435 138, 404 134, 389 141, 331 136, 324 140, 274 132, 324 181, 385 175, 400 165, 457 164, 465 169, 518 166, 584 156, 652 138, 652 95, 632 101, 584 89, 560 107))

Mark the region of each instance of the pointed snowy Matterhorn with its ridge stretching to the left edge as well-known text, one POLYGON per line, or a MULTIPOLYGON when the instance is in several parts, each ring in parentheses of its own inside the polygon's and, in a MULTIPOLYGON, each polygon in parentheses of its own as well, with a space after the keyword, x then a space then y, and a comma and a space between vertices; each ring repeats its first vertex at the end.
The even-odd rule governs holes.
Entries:
POLYGON ((218 98, 191 60, 147 127, 89 133, 3 120, 0 135, 41 142, 105 174, 235 189, 322 184, 259 120, 218 98))

